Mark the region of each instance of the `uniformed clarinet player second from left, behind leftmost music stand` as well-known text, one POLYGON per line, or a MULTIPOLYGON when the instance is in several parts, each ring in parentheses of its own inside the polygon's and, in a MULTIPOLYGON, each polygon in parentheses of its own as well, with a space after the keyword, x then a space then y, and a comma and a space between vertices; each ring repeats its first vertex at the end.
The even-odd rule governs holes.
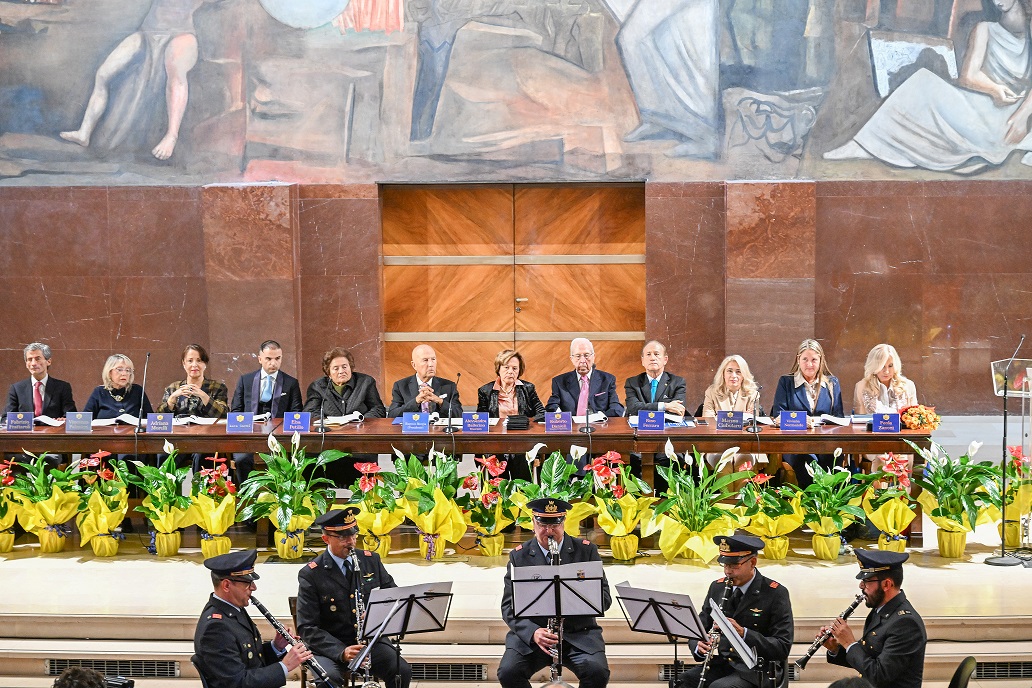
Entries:
MULTIPOLYGON (((297 574, 297 631, 337 686, 344 685, 348 663, 363 648, 357 635, 355 593, 367 605, 374 588, 397 587, 379 554, 355 549, 357 514, 357 507, 349 506, 316 519, 316 525, 322 526, 326 551, 297 574)), ((389 688, 409 687, 412 667, 397 656, 387 638, 377 641, 369 655, 373 676, 389 688)))

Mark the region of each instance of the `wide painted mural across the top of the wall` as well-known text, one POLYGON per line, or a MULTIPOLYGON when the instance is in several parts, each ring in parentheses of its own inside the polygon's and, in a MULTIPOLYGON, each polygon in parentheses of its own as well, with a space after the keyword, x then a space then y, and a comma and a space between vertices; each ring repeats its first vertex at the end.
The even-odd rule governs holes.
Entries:
POLYGON ((0 0, 0 184, 1027 178, 1028 0, 0 0))

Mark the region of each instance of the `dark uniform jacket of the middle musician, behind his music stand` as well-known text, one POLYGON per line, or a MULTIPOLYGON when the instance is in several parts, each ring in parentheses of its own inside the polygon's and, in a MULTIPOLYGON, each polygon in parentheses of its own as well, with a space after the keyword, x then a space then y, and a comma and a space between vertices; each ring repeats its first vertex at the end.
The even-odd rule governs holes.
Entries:
MULTIPOLYGON (((602 561, 602 557, 599 556, 599 548, 588 540, 567 535, 562 539, 559 560, 563 564, 572 564, 578 561, 602 561)), ((509 633, 506 635, 506 648, 516 650, 522 655, 529 655, 535 650, 541 651, 534 642, 534 632, 539 628, 547 626, 548 619, 545 617, 516 618, 513 609, 511 570, 513 566, 545 566, 547 564, 548 559, 538 546, 538 540, 534 538, 517 546, 516 549, 509 553, 505 592, 502 595, 502 620, 509 626, 509 633)), ((609 581, 606 580, 606 575, 603 572, 603 611, 608 610, 612 603, 613 597, 609 592, 609 581)), ((588 654, 603 652, 606 649, 605 641, 602 640, 602 628, 594 617, 566 617, 562 624, 562 638, 578 650, 588 654)))

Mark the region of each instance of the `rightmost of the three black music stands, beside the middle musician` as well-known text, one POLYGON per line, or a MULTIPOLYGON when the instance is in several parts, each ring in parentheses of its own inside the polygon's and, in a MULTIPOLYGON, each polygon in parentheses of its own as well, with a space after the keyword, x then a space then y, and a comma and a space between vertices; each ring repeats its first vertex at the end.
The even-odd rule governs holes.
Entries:
POLYGON ((627 620, 631 630, 666 635, 667 642, 674 644, 674 685, 677 685, 681 666, 677 657, 677 640, 703 641, 707 636, 691 597, 632 588, 626 583, 620 583, 616 586, 616 599, 620 601, 623 618, 627 620))

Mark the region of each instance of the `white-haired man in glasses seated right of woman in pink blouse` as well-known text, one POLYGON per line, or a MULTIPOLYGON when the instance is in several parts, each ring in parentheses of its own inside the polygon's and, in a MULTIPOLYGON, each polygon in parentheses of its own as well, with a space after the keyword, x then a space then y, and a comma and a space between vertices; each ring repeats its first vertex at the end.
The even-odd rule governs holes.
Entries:
POLYGON ((616 395, 616 378, 594 367, 594 347, 578 337, 570 342, 570 360, 574 369, 552 378, 552 395, 546 411, 570 412, 586 416, 602 412, 609 418, 623 415, 623 405, 616 395))

